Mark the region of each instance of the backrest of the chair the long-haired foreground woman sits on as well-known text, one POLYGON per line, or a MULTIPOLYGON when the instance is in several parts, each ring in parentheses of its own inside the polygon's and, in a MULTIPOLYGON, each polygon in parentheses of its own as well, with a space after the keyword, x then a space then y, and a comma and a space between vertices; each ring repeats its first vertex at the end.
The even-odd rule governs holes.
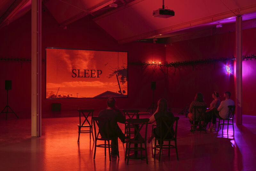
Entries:
POLYGON ((179 117, 160 117, 160 139, 176 139, 179 117), (175 130, 173 125, 175 124, 175 130))

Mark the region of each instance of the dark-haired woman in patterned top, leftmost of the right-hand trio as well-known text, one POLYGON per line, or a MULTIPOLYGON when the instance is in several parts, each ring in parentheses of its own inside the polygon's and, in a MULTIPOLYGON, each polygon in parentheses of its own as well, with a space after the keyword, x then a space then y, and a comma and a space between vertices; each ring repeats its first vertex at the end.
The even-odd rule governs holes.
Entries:
POLYGON ((189 107, 189 113, 188 113, 188 120, 191 124, 193 124, 195 120, 195 115, 196 115, 196 120, 195 120, 195 125, 198 124, 198 121, 204 121, 204 116, 200 115, 198 112, 195 113, 194 106, 205 106, 206 103, 204 102, 204 97, 202 93, 196 93, 195 100, 190 104, 189 107))

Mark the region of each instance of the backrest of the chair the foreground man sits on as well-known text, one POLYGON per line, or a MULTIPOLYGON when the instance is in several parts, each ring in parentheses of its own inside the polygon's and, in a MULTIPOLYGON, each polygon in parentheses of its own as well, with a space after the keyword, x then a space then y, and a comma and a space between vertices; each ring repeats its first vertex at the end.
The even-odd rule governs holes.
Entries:
POLYGON ((111 118, 94 116, 92 117, 92 120, 93 120, 95 139, 97 139, 99 135, 101 135, 102 138, 109 139, 110 133, 109 133, 108 127, 109 127, 109 122, 111 118), (96 126, 98 127, 98 131, 96 131, 96 126))

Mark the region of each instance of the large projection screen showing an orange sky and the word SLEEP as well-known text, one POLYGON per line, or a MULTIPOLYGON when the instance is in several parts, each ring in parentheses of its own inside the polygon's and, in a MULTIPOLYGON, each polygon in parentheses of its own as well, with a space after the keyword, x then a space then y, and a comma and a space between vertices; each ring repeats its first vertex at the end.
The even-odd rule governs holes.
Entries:
POLYGON ((127 52, 45 51, 46 99, 128 97, 127 52))

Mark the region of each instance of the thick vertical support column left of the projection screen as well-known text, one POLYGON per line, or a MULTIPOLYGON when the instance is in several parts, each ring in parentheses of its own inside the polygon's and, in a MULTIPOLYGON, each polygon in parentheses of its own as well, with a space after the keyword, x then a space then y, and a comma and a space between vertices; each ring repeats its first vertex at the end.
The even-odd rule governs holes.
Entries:
POLYGON ((31 1, 31 136, 41 136, 41 0, 31 1))

